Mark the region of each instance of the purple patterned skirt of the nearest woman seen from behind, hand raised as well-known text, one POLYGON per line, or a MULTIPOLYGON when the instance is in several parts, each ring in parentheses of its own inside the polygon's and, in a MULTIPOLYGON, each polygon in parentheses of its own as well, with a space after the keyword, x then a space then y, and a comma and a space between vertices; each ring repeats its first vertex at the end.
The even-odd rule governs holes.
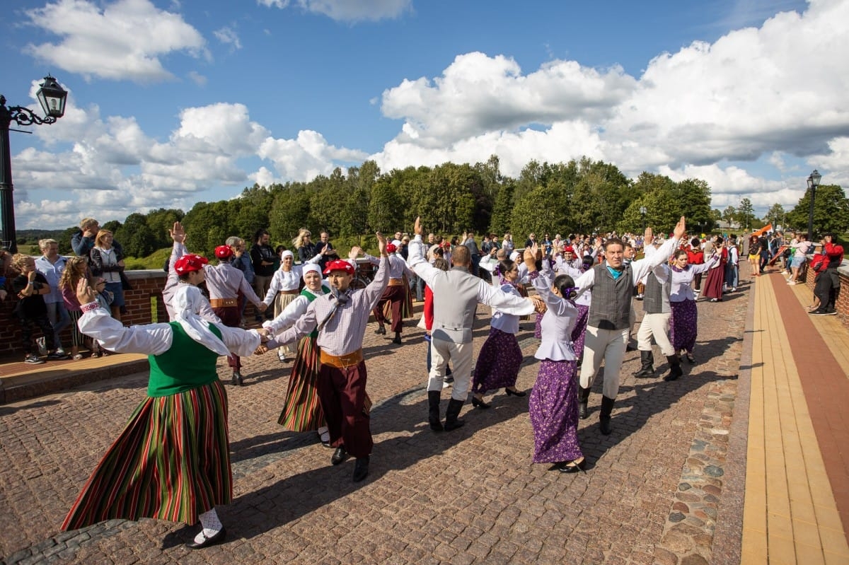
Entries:
POLYGON ((533 428, 533 462, 574 461, 583 456, 578 445, 578 381, 576 361, 539 364, 531 390, 528 415, 533 428))

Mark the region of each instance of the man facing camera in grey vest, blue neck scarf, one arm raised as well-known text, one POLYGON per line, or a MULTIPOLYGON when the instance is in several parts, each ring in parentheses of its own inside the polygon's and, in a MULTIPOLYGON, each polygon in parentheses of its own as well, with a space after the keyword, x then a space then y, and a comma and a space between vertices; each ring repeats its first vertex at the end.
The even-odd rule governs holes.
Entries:
MULTIPOLYGON (((619 393, 619 371, 622 355, 628 343, 631 331, 631 301, 637 282, 656 266, 666 262, 678 241, 686 231, 684 217, 675 226, 673 237, 661 245, 657 253, 625 265, 625 245, 619 238, 610 238, 604 242, 604 263, 594 266, 575 281, 579 292, 593 290, 593 299, 589 305, 587 338, 584 342, 581 382, 578 385, 578 415, 588 416, 589 391, 593 386, 595 373, 604 359, 604 386, 602 388, 599 427, 604 435, 610 434, 610 414, 613 403, 619 393)), ((651 238, 651 228, 645 231, 645 237, 651 238)))

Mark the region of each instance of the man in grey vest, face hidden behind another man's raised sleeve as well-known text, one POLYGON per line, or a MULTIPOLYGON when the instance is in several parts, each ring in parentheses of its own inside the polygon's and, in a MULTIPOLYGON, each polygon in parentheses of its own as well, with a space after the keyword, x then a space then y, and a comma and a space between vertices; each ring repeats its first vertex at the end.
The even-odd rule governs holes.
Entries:
MULTIPOLYGON (((655 245, 648 239, 645 242, 645 256, 649 257, 657 253, 660 242, 655 240, 655 245)), ((669 361, 669 374, 663 378, 665 381, 674 381, 683 375, 681 371, 681 358, 669 341, 669 323, 672 319, 672 308, 669 305, 670 289, 669 267, 661 265, 655 267, 645 277, 645 290, 643 294, 643 322, 640 323, 637 332, 637 349, 640 356, 640 368, 633 373, 634 377, 651 377, 655 374, 655 356, 651 353, 651 338, 661 348, 661 353, 666 355, 669 361)))

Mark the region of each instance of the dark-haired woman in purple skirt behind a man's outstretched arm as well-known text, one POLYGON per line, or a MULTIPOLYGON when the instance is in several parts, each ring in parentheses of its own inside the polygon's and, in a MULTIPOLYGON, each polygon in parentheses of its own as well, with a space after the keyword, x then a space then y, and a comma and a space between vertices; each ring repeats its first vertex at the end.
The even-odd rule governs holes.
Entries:
MULTIPOLYGON (((498 277, 501 278, 501 291, 520 297, 516 288, 519 280, 519 266, 511 260, 503 260, 498 265, 498 277)), ((489 337, 481 346, 475 364, 475 378, 472 380, 472 406, 489 408, 483 400, 487 390, 504 388, 508 396, 525 396, 525 391, 516 389, 519 368, 522 364, 522 350, 516 333, 519 333, 519 316, 514 316, 495 308, 490 322, 489 337)))

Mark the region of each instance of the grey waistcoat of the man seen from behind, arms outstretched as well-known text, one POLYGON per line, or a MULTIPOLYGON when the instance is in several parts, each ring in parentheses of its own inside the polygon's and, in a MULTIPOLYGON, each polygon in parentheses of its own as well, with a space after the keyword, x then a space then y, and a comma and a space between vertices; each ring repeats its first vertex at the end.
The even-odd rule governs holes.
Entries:
POLYGON ((434 338, 455 344, 471 343, 480 283, 480 278, 460 267, 431 281, 434 299, 430 333, 434 338))

